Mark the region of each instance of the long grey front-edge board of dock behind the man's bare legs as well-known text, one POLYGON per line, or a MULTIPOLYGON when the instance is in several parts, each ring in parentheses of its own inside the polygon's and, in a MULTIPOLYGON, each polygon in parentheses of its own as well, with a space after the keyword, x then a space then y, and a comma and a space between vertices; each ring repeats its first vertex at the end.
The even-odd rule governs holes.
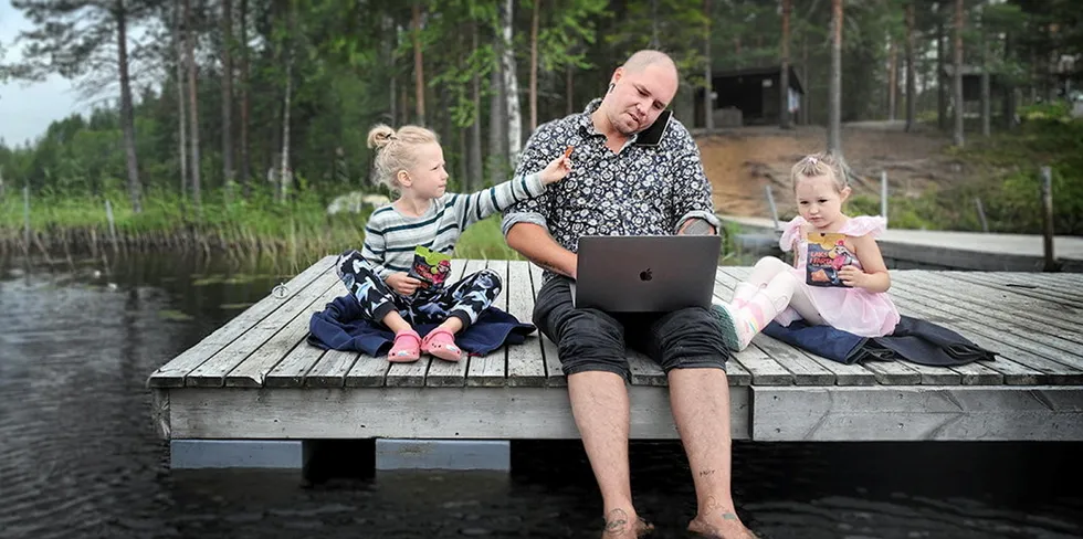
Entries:
MULTIPOLYGON (((171 395, 176 438, 579 437, 561 388, 313 388, 280 391, 188 388, 171 395)), ((677 437, 669 392, 632 385, 631 437, 677 437)), ((748 388, 730 388, 730 433, 748 440, 748 388)))

